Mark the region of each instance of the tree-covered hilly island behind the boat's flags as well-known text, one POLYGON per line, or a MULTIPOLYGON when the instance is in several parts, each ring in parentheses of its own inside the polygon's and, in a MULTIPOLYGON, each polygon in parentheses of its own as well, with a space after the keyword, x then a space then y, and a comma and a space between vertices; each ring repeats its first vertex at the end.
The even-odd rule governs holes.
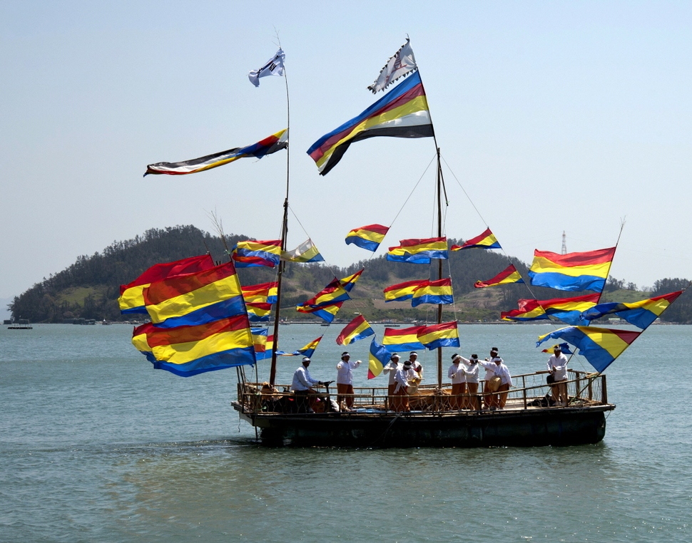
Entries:
MULTIPOLYGON (((126 321, 118 310, 121 284, 136 279, 144 270, 158 262, 192 257, 209 253, 217 262, 228 261, 228 249, 242 239, 253 239, 243 234, 220 236, 203 232, 193 226, 177 226, 150 229, 142 236, 121 242, 113 242, 91 256, 78 257, 76 262, 63 271, 51 274, 16 296, 9 304, 14 319, 29 319, 35 323, 61 323, 72 319, 95 319, 97 321, 126 321)), ((462 242, 462 240, 452 240, 462 242)), ((449 260, 442 261, 444 274, 452 276, 454 285, 453 305, 444 306, 445 319, 459 321, 497 321, 501 311, 516 309, 521 298, 549 299, 554 297, 578 296, 579 292, 566 292, 556 296, 555 291, 531 287, 534 296, 524 284, 509 284, 489 289, 475 289, 474 282, 489 279, 509 265, 507 257, 483 249, 450 252, 449 260)), ((519 259, 512 262, 526 277, 528 267, 519 259)), ((423 304, 412 308, 408 301, 385 304, 382 289, 391 284, 413 279, 427 279, 434 273, 432 267, 389 262, 384 256, 356 262, 347 268, 329 267, 320 264, 288 263, 283 283, 283 299, 280 315, 287 319, 315 320, 314 316, 295 311, 295 305, 309 299, 335 276, 343 277, 366 268, 351 292, 352 301, 344 307, 346 321, 358 311, 367 319, 378 321, 434 320, 437 306, 423 304)), ((275 269, 238 269, 242 284, 256 284, 275 280, 275 269)), ((437 279, 437 277, 432 277, 437 279)), ((659 294, 686 288, 688 279, 660 279, 653 289, 639 291, 637 286, 624 279, 609 277, 603 301, 637 301, 659 294)), ((692 323, 692 294, 687 291, 668 309, 661 318, 670 323, 692 323)))

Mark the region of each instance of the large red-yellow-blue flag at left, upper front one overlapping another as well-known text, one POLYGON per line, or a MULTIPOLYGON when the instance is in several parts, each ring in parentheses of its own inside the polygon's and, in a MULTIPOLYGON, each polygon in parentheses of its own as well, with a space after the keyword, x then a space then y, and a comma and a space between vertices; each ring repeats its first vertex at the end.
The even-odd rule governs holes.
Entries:
POLYGON ((156 281, 143 294, 147 313, 158 328, 195 326, 225 317, 245 316, 245 302, 233 262, 156 281))

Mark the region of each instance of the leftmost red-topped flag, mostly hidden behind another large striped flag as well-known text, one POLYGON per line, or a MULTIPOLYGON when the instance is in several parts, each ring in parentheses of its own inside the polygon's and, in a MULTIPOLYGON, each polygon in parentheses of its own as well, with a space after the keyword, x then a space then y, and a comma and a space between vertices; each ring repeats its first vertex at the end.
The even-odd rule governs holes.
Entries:
POLYGON ((143 291, 147 286, 155 281, 193 274, 195 271, 203 271, 213 267, 214 259, 209 254, 175 260, 175 262, 154 264, 134 281, 120 286, 120 297, 118 298, 120 312, 122 314, 143 313, 146 315, 143 291))

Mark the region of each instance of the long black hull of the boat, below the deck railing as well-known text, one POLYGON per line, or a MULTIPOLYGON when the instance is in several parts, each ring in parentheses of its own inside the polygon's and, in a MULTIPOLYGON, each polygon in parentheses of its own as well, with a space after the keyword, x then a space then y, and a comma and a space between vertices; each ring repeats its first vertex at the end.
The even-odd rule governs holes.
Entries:
MULTIPOLYGON (((234 405, 237 409, 240 405, 234 405)), ((243 413, 268 446, 338 447, 536 447, 599 443, 606 411, 580 408, 462 413, 243 413)))

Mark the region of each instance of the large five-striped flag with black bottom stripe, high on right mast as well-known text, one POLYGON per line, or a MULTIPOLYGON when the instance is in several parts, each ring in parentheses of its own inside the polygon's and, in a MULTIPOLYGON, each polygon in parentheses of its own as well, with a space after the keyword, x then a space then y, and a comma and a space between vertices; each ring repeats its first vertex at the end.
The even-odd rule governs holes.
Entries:
POLYGON ((327 175, 349 146, 375 136, 427 138, 433 135, 425 91, 419 73, 413 73, 360 115, 325 134, 307 154, 320 175, 327 175))

